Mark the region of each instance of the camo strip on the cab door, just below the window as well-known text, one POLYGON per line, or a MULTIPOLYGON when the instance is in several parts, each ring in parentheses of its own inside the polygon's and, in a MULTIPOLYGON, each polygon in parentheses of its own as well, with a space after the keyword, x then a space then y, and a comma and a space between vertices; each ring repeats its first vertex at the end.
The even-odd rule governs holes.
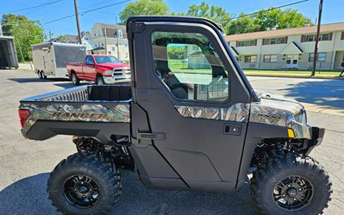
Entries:
POLYGON ((180 105, 174 107, 182 117, 247 122, 250 104, 237 103, 225 108, 180 105))

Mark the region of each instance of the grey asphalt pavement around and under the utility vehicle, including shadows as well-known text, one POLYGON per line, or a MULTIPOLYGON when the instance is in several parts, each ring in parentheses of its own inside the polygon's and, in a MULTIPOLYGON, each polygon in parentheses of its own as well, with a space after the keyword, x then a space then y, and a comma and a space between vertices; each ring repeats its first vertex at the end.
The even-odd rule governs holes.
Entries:
MULTIPOLYGON (((256 89, 302 102, 311 125, 325 127, 324 142, 310 154, 329 172, 332 201, 325 214, 344 211, 344 81, 249 77, 256 89), (309 107, 309 109, 308 109, 309 107)), ((82 83, 87 84, 87 83, 82 83)), ((0 70, 0 214, 58 214, 48 201, 52 169, 76 152, 70 136, 25 140, 20 133, 19 100, 72 87, 67 79, 41 80, 29 71, 0 70)), ((133 172, 123 171, 123 192, 112 214, 255 214, 249 186, 233 193, 149 191, 133 172)))

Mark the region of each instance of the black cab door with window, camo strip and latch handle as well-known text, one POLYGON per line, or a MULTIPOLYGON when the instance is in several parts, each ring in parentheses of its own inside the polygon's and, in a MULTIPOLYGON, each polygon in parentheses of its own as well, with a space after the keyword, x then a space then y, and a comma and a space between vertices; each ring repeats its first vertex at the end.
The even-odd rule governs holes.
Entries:
POLYGON ((150 134, 133 122, 134 136, 150 138, 191 189, 235 189, 250 94, 219 31, 183 21, 135 24, 134 101, 147 113, 150 134))

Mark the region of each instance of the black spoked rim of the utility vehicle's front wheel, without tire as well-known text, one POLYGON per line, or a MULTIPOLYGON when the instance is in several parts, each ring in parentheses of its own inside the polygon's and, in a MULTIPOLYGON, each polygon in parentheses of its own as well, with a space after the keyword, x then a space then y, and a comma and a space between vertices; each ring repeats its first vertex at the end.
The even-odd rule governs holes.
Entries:
POLYGON ((273 198, 275 204, 284 210, 300 210, 311 202, 313 185, 301 176, 289 176, 275 185, 273 198))

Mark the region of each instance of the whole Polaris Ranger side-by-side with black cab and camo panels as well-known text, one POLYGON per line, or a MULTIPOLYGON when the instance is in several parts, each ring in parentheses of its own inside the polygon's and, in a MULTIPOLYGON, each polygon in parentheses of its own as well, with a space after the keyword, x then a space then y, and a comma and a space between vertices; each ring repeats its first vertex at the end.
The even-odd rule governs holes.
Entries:
POLYGON ((59 211, 108 213, 128 169, 149 189, 225 192, 250 182, 260 213, 323 213, 332 184, 308 154, 324 129, 307 124, 297 101, 252 89, 221 26, 139 16, 128 19, 127 35, 131 85, 20 101, 25 138, 74 136, 78 153, 48 180, 59 211))

